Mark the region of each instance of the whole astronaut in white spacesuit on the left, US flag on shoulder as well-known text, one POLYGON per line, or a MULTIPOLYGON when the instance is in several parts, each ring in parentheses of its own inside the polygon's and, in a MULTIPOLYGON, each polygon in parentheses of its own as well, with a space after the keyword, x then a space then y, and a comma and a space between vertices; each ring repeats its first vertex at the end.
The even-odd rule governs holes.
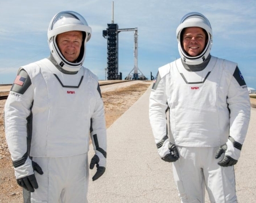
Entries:
POLYGON ((50 56, 20 67, 11 87, 6 140, 24 202, 87 202, 89 138, 92 179, 105 172, 104 104, 98 78, 82 66, 91 35, 80 14, 59 12, 49 24, 50 56))

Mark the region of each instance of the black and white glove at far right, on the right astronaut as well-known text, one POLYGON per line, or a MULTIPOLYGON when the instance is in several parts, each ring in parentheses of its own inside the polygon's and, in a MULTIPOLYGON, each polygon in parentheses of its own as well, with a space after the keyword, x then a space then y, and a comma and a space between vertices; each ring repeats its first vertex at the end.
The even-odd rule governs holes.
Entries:
POLYGON ((238 158, 240 157, 241 148, 241 144, 234 142, 234 139, 229 137, 228 142, 221 145, 216 152, 216 159, 220 158, 222 153, 225 153, 224 158, 218 162, 218 164, 223 167, 233 166, 236 164, 238 162, 238 158))

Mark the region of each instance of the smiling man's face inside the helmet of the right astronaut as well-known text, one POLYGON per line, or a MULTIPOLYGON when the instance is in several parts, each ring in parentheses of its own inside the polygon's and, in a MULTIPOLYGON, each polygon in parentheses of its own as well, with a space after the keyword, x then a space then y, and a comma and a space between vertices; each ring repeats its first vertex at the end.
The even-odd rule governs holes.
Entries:
POLYGON ((183 48, 190 56, 199 56, 204 50, 205 43, 206 36, 202 28, 185 28, 183 34, 183 48))

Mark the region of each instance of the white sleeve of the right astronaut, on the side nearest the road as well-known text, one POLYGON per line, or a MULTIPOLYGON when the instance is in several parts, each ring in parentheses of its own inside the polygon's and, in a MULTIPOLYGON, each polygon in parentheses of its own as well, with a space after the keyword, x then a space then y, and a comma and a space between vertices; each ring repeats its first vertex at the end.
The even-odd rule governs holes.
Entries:
POLYGON ((167 121, 166 110, 168 108, 166 90, 164 87, 164 78, 161 75, 156 75, 156 79, 152 86, 149 100, 149 118, 153 135, 155 137, 155 143, 158 147, 158 152, 161 157, 164 157, 167 152, 162 154, 159 150, 163 145, 166 145, 168 141, 167 136, 167 121))

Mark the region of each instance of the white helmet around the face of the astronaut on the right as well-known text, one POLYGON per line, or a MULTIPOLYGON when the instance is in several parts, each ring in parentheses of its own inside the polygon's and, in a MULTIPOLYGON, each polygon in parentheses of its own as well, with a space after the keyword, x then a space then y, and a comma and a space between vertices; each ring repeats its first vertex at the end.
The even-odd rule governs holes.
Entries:
POLYGON ((187 15, 183 16, 180 20, 180 25, 176 29, 176 36, 178 41, 178 49, 180 57, 188 65, 198 65, 204 62, 204 60, 209 56, 210 49, 212 48, 212 27, 210 26, 209 20, 199 12, 189 12, 187 15), (200 27, 207 32, 208 42, 205 45, 203 52, 196 57, 188 56, 188 54, 183 49, 182 44, 182 30, 187 27, 200 27))

